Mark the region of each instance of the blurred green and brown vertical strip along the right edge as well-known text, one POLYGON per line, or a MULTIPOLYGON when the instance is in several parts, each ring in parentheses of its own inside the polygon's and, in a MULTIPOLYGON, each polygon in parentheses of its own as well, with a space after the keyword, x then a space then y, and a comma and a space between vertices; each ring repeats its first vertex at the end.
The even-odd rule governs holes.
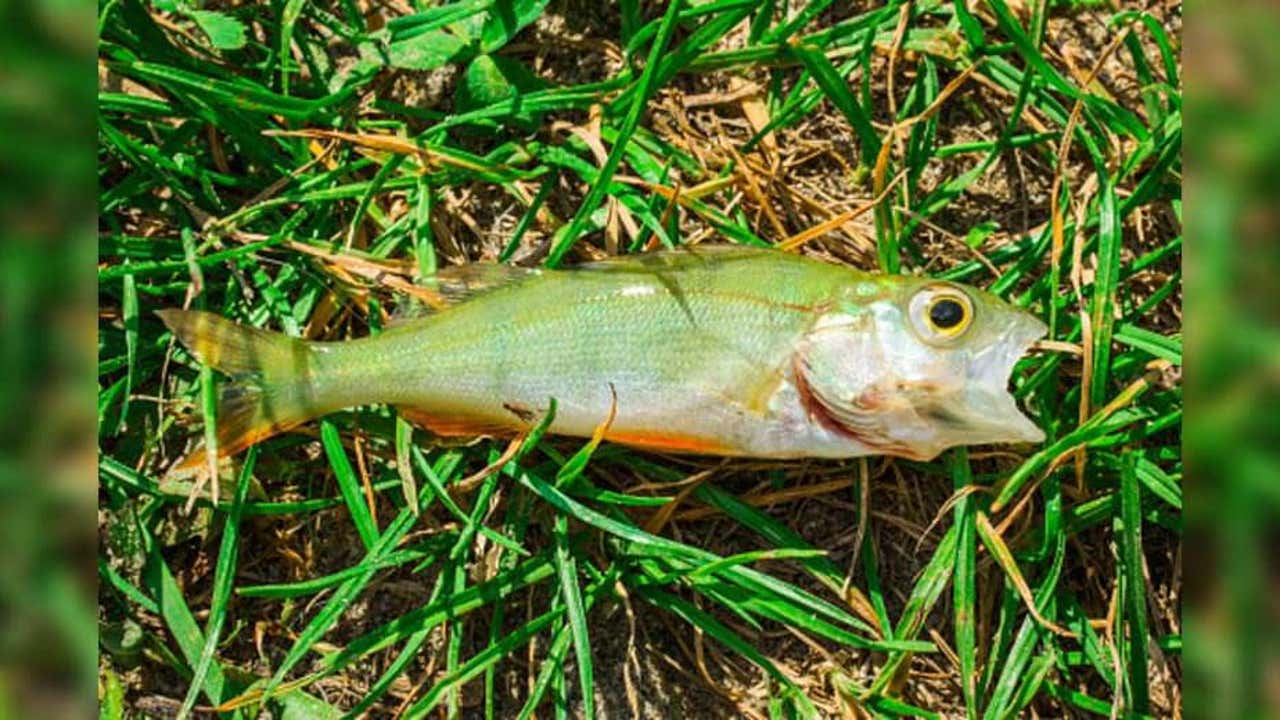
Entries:
POLYGON ((1280 5, 1184 26, 1188 717, 1280 716, 1280 5))

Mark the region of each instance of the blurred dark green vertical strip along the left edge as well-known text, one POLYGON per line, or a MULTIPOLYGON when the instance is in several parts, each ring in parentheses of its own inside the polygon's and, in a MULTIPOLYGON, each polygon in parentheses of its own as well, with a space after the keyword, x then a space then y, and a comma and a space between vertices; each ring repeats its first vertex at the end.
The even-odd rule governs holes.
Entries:
POLYGON ((0 0, 0 719, 96 705, 95 12, 0 0))

